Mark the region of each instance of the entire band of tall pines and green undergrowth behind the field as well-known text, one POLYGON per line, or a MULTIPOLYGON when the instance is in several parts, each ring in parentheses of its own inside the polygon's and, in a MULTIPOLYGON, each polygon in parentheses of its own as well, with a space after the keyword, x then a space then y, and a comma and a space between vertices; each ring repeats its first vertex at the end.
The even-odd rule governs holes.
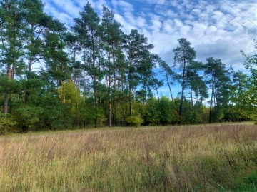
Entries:
POLYGON ((1 0, 0 37, 0 133, 255 119, 257 55, 242 51, 246 75, 221 59, 196 61, 181 38, 167 64, 105 6, 99 16, 86 4, 68 28, 41 0, 1 0))

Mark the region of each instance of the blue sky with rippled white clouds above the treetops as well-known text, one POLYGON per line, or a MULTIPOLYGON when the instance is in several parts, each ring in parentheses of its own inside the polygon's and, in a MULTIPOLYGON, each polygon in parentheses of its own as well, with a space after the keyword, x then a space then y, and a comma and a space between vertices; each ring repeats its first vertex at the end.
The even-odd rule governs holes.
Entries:
MULTIPOLYGON (((191 42, 197 61, 221 59, 236 71, 246 71, 241 50, 248 56, 256 52, 256 0, 43 0, 45 11, 67 26, 88 1, 99 16, 102 5, 112 9, 126 34, 138 29, 155 46, 152 52, 170 66, 182 37, 191 42)), ((166 92, 163 87, 161 94, 166 92)))

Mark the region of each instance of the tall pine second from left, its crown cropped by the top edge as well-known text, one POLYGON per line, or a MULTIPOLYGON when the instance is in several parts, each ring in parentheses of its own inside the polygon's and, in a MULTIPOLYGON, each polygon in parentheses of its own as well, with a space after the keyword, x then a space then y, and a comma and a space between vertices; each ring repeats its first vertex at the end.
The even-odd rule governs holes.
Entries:
POLYGON ((23 14, 26 34, 24 41, 25 59, 26 59, 26 84, 24 91, 24 103, 29 102, 29 96, 34 89, 39 89, 41 84, 39 77, 33 70, 37 64, 37 69, 41 67, 41 61, 44 59, 44 49, 47 49, 46 32, 51 30, 54 19, 44 13, 44 4, 41 0, 24 0, 21 1, 20 7, 23 14), (36 87, 38 85, 39 87, 36 87))

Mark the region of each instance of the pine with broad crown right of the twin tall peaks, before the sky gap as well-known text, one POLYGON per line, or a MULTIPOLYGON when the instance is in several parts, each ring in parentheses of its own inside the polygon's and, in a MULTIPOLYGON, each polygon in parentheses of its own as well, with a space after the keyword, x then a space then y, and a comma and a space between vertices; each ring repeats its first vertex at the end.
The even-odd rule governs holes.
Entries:
MULTIPOLYGON (((153 81, 153 66, 155 66, 155 56, 150 53, 153 49, 153 44, 148 44, 148 39, 143 34, 139 34, 138 30, 131 29, 129 35, 125 35, 124 48, 126 48, 127 55, 127 69, 126 75, 128 78, 128 90, 129 90, 129 114, 132 112, 132 92, 136 90, 139 84, 141 84, 143 91, 142 99, 143 103, 146 103, 146 94, 148 90, 151 90, 151 81, 153 81), (148 90, 147 90, 148 89, 148 90)), ((148 91, 151 93, 151 91, 148 91)))

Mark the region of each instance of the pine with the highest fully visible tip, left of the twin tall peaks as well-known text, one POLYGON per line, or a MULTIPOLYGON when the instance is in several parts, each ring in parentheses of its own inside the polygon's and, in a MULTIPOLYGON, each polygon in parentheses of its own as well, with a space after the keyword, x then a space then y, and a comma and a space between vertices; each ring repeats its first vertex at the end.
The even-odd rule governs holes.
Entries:
POLYGON ((86 74, 91 77, 91 89, 93 89, 94 109, 96 114, 94 126, 96 127, 98 123, 99 84, 101 79, 103 79, 101 72, 103 59, 100 49, 100 19, 89 3, 84 6, 84 11, 81 11, 79 16, 79 18, 74 19, 75 25, 73 29, 79 36, 79 44, 82 50, 84 98, 86 91, 86 74))

